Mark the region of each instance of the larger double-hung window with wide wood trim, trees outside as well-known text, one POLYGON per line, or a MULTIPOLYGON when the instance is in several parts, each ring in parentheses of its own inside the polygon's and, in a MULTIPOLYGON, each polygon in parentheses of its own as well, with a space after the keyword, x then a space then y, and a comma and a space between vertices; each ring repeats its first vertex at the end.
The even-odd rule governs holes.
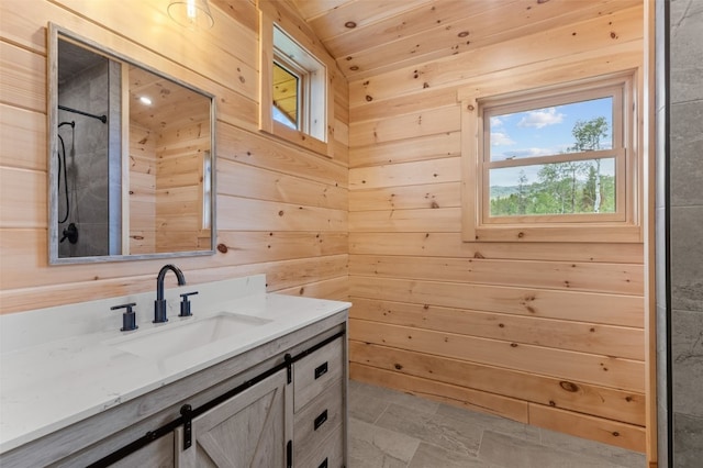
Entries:
POLYGON ((598 242, 617 232, 636 241, 632 82, 618 76, 468 102, 476 118, 465 131, 475 125, 477 138, 465 148, 475 171, 465 238, 598 242))

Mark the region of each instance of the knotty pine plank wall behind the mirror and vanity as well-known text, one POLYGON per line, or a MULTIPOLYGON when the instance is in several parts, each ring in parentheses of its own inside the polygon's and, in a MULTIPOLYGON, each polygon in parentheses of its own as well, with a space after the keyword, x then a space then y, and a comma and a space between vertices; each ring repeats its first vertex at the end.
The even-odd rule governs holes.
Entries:
POLYGON ((214 27, 192 33, 159 0, 0 2, 2 313, 149 291, 165 264, 48 266, 48 21, 216 97, 219 252, 175 261, 189 283, 265 272, 269 291, 347 299, 346 80, 333 81, 334 158, 260 134, 255 2, 210 5, 214 27))

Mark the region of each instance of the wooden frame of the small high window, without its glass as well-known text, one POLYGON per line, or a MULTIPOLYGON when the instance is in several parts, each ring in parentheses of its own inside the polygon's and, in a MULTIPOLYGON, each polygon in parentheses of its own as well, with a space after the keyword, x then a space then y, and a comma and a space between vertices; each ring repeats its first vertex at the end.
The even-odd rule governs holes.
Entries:
POLYGON ((259 3, 259 130, 333 157, 334 96, 331 73, 335 63, 321 44, 311 43, 290 19, 276 14, 277 20, 274 21, 276 10, 269 11, 272 8, 269 3, 259 3), (290 41, 282 48, 275 45, 275 29, 290 41), (297 74, 301 73, 304 79, 301 87, 303 96, 299 97, 303 109, 299 109, 301 122, 298 130, 274 119, 275 60, 297 74))

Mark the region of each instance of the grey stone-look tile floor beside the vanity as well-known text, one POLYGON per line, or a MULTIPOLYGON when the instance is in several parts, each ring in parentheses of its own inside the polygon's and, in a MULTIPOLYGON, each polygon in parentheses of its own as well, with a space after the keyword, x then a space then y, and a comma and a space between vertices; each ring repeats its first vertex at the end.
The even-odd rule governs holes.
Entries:
POLYGON ((645 456, 349 382, 349 468, 641 468, 645 456))

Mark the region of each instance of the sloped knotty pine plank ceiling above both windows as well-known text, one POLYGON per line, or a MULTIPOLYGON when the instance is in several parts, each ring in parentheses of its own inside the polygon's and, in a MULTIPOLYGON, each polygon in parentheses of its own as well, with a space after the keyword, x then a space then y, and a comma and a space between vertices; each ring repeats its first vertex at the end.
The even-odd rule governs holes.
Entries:
POLYGON ((436 60, 643 0, 292 0, 349 79, 436 60))

